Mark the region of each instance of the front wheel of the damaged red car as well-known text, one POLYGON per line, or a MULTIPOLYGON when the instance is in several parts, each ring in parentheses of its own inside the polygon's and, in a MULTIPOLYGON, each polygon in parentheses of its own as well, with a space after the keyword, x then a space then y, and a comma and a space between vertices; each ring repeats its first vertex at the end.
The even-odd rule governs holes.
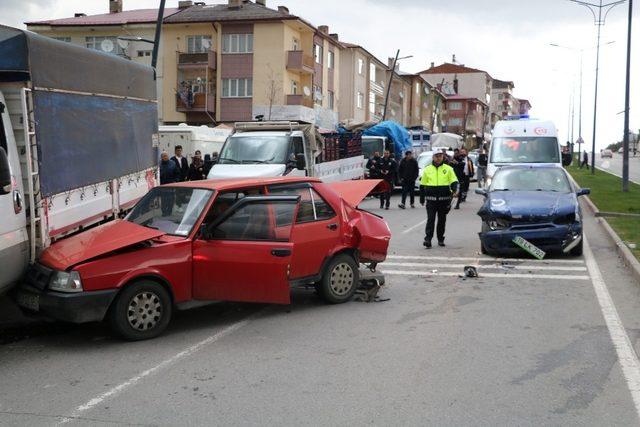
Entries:
POLYGON ((171 297, 158 283, 141 281, 125 288, 109 312, 111 328, 129 341, 155 338, 171 320, 171 297))

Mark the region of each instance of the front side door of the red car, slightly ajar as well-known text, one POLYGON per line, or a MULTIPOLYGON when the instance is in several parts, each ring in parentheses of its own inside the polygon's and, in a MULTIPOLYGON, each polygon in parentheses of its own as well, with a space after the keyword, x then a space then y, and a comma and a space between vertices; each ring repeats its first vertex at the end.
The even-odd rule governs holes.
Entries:
POLYGON ((193 297, 288 304, 298 196, 250 196, 193 242, 193 297))

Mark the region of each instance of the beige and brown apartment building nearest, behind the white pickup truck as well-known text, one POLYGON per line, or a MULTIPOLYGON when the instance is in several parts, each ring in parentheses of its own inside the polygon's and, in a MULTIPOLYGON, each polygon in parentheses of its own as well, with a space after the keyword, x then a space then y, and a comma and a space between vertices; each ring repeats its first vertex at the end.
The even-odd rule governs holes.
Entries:
POLYGON ((265 0, 229 0, 195 4, 165 19, 164 29, 165 45, 176 52, 164 62, 163 90, 176 93, 175 107, 165 103, 166 121, 198 123, 204 113, 217 122, 262 116, 337 123, 342 46, 328 27, 265 0), (206 101, 197 99, 202 92, 206 101))

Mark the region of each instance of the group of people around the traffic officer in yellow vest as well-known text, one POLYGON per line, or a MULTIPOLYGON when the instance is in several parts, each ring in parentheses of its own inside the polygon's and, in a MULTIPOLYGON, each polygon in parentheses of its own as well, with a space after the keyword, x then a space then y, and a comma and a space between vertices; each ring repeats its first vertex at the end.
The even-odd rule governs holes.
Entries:
MULTIPOLYGON (((453 209, 460 209, 460 204, 467 199, 471 178, 476 175, 478 186, 482 187, 486 180, 488 157, 484 147, 478 153, 478 166, 468 156, 465 148, 455 149, 453 156, 447 150, 433 153, 431 164, 427 165, 420 177, 420 204, 426 205, 427 223, 425 226, 424 246, 431 248, 434 232, 438 245, 445 246, 445 227, 447 214, 457 199, 453 209), (476 171, 477 169, 477 171, 476 171), (436 227, 437 222, 437 227, 436 227)), ((380 194, 380 208, 389 209, 391 192, 396 182, 402 186, 402 196, 398 207, 406 209, 407 198, 411 208, 415 208, 415 182, 420 174, 418 161, 411 151, 406 151, 399 164, 387 150, 383 156, 374 153, 366 165, 369 177, 383 179, 384 190, 380 194)))

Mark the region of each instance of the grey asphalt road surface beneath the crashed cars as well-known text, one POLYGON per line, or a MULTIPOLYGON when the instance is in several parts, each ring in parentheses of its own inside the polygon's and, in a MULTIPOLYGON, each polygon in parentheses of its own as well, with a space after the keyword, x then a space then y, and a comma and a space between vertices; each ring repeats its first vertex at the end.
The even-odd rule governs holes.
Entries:
POLYGON ((138 343, 102 325, 18 328, 0 345, 0 424, 638 424, 640 284, 593 218, 592 257, 503 264, 476 260, 478 196, 429 251, 424 210, 392 202, 363 204, 393 232, 388 301, 295 290, 290 306, 180 313, 138 343), (479 278, 458 277, 474 263, 479 278))

